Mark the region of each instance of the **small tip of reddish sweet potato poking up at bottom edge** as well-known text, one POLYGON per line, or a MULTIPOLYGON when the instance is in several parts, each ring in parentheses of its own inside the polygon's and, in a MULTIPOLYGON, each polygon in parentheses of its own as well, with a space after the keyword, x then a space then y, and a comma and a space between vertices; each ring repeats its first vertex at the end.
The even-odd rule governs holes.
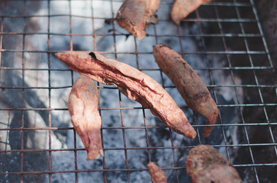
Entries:
POLYGON ((167 183, 166 175, 164 175, 161 168, 153 162, 148 163, 148 171, 150 173, 153 183, 167 183))

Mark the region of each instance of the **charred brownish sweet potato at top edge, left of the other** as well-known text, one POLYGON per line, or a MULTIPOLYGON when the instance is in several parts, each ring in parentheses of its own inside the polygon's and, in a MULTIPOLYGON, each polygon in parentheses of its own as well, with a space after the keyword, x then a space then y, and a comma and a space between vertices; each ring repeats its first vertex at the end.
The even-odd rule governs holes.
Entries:
POLYGON ((125 0, 116 15, 118 26, 125 28, 137 39, 143 39, 150 23, 158 23, 154 13, 160 0, 125 0))

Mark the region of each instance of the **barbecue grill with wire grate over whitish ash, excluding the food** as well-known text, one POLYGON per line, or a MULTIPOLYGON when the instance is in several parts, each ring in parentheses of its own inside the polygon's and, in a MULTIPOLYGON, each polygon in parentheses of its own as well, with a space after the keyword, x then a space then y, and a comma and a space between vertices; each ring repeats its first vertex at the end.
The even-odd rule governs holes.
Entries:
POLYGON ((244 182, 276 181, 277 85, 254 1, 212 1, 175 26, 172 1, 161 0, 159 23, 140 41, 114 21, 121 3, 1 1, 0 182, 151 182, 149 161, 168 182, 190 182, 185 157, 198 144, 217 148, 244 182), (155 63, 155 44, 179 52, 210 90, 220 110, 210 137, 202 136, 206 119, 186 106, 155 63), (79 75, 55 58, 62 50, 99 51, 150 75, 184 110, 197 137, 171 131, 115 86, 98 83, 105 156, 86 161, 67 109, 79 75))

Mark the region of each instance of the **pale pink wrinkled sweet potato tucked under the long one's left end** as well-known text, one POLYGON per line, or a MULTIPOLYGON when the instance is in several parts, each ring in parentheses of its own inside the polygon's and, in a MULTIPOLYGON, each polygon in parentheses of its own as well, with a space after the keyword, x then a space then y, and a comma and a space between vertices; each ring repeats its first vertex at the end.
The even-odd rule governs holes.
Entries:
POLYGON ((104 156, 100 137, 101 117, 97 109, 98 98, 94 81, 82 75, 74 82, 69 95, 71 123, 87 150, 87 160, 104 156))

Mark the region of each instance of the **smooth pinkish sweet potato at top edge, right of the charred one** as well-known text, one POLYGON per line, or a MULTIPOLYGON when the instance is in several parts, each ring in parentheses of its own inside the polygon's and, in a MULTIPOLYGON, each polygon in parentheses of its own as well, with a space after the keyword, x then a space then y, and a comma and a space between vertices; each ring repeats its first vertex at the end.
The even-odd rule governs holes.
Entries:
POLYGON ((172 20, 179 26, 180 21, 186 18, 190 12, 210 1, 212 0, 175 0, 171 10, 172 20))

